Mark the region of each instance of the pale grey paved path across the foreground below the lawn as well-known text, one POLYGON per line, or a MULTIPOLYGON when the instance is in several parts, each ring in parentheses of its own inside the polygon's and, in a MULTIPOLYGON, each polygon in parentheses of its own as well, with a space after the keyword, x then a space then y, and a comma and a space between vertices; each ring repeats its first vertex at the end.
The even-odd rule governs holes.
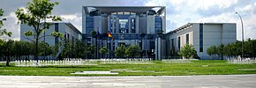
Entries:
POLYGON ((0 88, 256 88, 256 75, 160 77, 0 76, 0 88))

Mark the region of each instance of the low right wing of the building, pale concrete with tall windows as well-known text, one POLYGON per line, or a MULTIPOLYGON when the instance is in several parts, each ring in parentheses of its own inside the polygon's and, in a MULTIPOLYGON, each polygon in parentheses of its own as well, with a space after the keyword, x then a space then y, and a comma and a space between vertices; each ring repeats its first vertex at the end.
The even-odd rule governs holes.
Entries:
POLYGON ((166 56, 175 55, 184 44, 189 43, 194 46, 200 59, 210 59, 207 48, 212 45, 236 42, 237 27, 235 23, 188 23, 164 36, 166 56))

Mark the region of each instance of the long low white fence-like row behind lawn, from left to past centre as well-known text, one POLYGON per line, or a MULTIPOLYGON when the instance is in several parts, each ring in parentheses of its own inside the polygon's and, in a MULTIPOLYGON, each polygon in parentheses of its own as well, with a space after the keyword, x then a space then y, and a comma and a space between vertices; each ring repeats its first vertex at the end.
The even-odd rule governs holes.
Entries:
POLYGON ((81 58, 64 58, 62 61, 44 61, 44 60, 21 60, 15 61, 16 66, 48 66, 48 65, 97 65, 101 63, 130 63, 130 64, 143 64, 150 63, 153 58, 125 58, 125 59, 81 59, 81 58))

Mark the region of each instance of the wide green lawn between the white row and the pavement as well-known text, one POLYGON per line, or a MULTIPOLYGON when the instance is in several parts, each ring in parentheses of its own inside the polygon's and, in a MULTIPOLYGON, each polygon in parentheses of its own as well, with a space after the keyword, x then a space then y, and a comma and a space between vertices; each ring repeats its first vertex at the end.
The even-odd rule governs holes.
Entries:
POLYGON ((102 64, 91 66, 42 66, 42 67, 5 67, 0 63, 0 75, 9 76, 184 76, 184 75, 224 75, 256 74, 256 64, 231 64, 226 61, 192 61, 190 63, 165 63, 156 61, 151 64, 102 64), (251 70, 238 70, 251 69, 251 70), (118 75, 72 75, 76 71, 105 70, 115 71, 118 75))

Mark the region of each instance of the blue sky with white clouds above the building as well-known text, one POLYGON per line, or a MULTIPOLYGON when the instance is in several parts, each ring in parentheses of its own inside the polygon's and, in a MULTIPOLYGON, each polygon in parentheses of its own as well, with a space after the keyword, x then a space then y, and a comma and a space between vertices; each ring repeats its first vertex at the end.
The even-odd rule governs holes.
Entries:
MULTIPOLYGON (((19 40, 20 31, 15 11, 25 8, 31 0, 1 0, 4 9, 4 28, 13 33, 11 39, 19 40)), ((244 19, 245 39, 256 39, 256 0, 51 0, 56 5, 53 15, 71 22, 82 30, 82 6, 166 6, 167 32, 187 23, 237 23, 237 40, 241 40, 241 23, 237 11, 244 19)), ((2 17, 3 18, 3 17, 2 17)), ((6 38, 6 37, 5 37, 6 38)))

